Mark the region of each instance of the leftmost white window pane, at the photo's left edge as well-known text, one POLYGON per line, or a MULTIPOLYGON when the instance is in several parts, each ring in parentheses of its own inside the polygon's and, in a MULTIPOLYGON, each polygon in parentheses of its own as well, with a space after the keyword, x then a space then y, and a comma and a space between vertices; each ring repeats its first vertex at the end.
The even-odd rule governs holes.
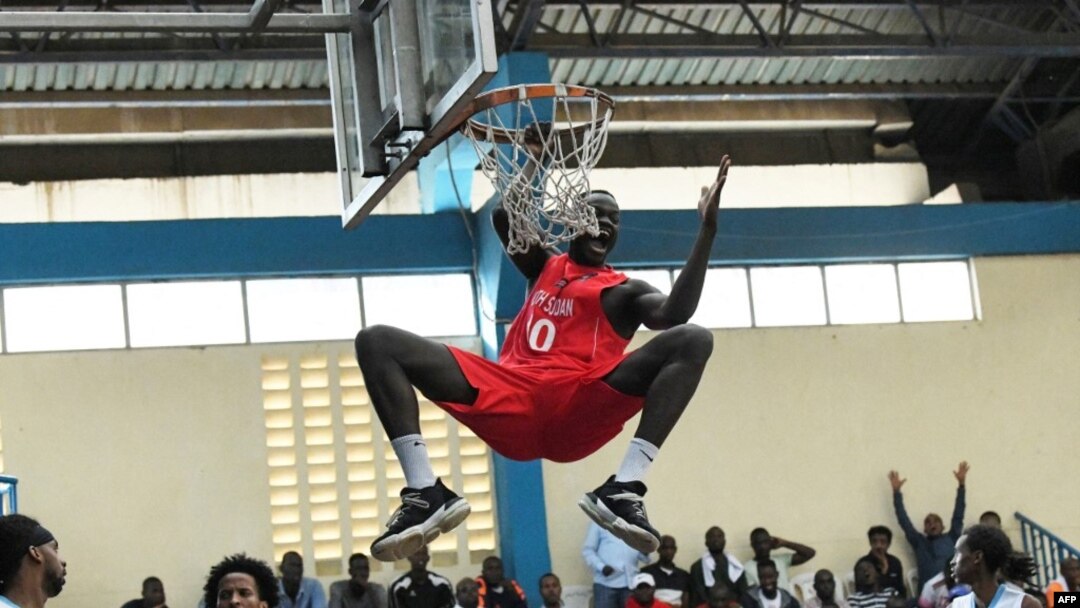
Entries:
POLYGON ((9 352, 124 348, 120 285, 4 289, 9 352))

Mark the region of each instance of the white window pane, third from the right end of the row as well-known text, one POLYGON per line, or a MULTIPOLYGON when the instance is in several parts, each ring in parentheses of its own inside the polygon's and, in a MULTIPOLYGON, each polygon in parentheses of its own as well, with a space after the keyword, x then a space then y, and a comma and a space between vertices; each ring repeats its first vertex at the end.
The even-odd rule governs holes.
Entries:
POLYGON ((825 293, 816 266, 750 269, 759 327, 824 325, 825 293))

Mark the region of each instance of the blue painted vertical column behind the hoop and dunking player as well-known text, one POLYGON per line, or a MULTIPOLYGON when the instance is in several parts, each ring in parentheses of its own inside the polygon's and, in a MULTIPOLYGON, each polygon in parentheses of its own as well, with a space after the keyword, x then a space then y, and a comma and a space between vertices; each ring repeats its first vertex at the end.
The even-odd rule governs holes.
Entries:
MULTIPOLYGON (((488 89, 531 82, 550 82, 548 56, 511 53, 499 59, 499 72, 488 89)), ((455 162, 455 166, 457 163, 455 162)), ((475 157, 470 168, 475 166, 475 157)), ((460 188, 461 180, 458 179, 460 188)), ((484 355, 496 359, 507 327, 525 303, 526 283, 507 258, 491 229, 491 211, 498 195, 476 216, 477 280, 480 281, 481 337, 484 355)), ((494 456, 496 516, 499 523, 499 556, 507 576, 528 594, 531 606, 541 606, 537 581, 551 571, 548 549, 548 511, 544 506, 543 470, 539 460, 517 462, 494 456)))

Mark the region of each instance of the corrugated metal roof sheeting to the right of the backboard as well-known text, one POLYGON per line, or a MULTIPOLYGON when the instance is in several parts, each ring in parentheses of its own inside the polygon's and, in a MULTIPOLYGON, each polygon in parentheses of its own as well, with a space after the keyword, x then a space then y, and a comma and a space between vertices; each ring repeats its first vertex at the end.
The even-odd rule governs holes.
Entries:
MULTIPOLYGON (((713 9, 660 8, 651 12, 622 11, 615 5, 591 6, 590 15, 599 35, 609 31, 629 35, 689 33, 686 22, 717 35, 756 35, 757 29, 739 6, 713 9), (620 18, 620 14, 622 17, 620 18), (616 24, 618 23, 618 26, 616 24)), ((792 23, 791 33, 859 33, 858 28, 883 35, 924 36, 916 15, 904 6, 819 10, 829 18, 801 12, 792 23), (855 27, 838 22, 847 22, 855 27)), ((981 17, 949 11, 946 31, 956 36, 994 36, 1010 28, 1045 31, 1057 23, 1047 8, 995 6, 982 10, 981 17), (1000 22, 998 25, 993 22, 1000 22)), ((770 32, 780 31, 778 5, 755 6, 755 16, 770 32)), ((935 18, 936 13, 928 15, 935 18)), ((545 28, 564 33, 588 33, 589 23, 577 6, 559 5, 544 11, 545 28)), ((937 24, 934 24, 937 27, 937 24)), ((869 35, 867 35, 869 36, 869 35)), ((555 58, 552 78, 589 86, 665 86, 734 84, 882 84, 882 83, 986 83, 1002 82, 1015 73, 1022 59, 1007 57, 918 57, 918 58, 555 58)))

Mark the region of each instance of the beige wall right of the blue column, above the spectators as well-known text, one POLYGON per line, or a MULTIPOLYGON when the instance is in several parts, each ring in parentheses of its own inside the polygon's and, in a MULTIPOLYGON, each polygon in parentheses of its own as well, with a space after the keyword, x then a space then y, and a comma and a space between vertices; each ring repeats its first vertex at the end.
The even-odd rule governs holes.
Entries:
MULTIPOLYGON (((928 512, 948 521, 964 459, 966 525, 995 510, 1018 541, 1020 511, 1080 544, 1080 256, 981 258, 975 273, 978 322, 716 330, 647 479, 675 562, 701 557, 712 525, 748 558, 750 531, 765 526, 818 550, 796 573, 847 570, 868 550, 866 529, 885 524, 913 567, 887 474, 908 479, 921 530, 928 512)), ((543 465, 552 566, 571 592, 592 583, 577 497, 615 471, 635 425, 589 460, 543 465)))

